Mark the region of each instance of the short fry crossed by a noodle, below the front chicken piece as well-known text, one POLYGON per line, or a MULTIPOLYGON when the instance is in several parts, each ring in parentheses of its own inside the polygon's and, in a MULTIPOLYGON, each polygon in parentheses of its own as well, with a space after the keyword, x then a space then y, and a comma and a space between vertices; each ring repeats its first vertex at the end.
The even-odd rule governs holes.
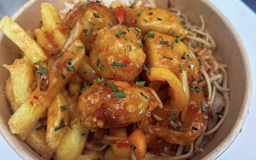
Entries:
MULTIPOLYGON (((118 136, 127 138, 126 128, 111 128, 109 129, 109 135, 111 136, 118 136)), ((111 151, 115 156, 124 157, 124 158, 131 158, 131 145, 128 143, 122 143, 121 145, 117 145, 116 143, 111 144, 111 151)))

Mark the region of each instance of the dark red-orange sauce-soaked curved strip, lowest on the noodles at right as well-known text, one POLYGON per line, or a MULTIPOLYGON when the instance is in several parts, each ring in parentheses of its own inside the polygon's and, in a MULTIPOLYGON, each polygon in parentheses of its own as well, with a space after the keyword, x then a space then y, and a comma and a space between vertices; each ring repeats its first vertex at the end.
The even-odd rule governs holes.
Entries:
POLYGON ((169 143, 189 145, 204 131, 207 124, 208 116, 202 111, 202 103, 207 106, 204 100, 204 93, 197 93, 194 90, 190 90, 188 118, 180 127, 179 131, 154 125, 149 118, 143 118, 139 128, 152 139, 163 138, 169 143))

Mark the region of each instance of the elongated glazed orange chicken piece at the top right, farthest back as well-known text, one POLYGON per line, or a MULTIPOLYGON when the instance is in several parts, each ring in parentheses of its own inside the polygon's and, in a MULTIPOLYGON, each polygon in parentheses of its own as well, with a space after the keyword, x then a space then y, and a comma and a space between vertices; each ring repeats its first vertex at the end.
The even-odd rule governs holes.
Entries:
POLYGON ((166 35, 180 36, 187 35, 186 26, 180 23, 174 13, 161 8, 136 7, 127 8, 125 24, 141 29, 141 34, 146 35, 148 31, 157 31, 166 35))

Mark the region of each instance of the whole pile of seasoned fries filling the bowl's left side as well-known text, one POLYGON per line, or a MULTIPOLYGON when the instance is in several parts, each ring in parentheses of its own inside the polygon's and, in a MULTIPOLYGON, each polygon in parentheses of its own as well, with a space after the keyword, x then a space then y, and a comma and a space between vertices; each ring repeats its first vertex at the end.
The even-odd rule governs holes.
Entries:
POLYGON ((6 98, 13 111, 8 124, 13 134, 45 159, 53 153, 57 159, 77 159, 89 133, 81 127, 76 106, 80 77, 93 82, 97 76, 84 76, 95 72, 84 45, 79 39, 66 44, 68 29, 54 7, 42 3, 41 9, 43 26, 34 31, 36 41, 10 17, 0 21, 0 31, 22 51, 22 58, 4 65, 10 71, 6 98))

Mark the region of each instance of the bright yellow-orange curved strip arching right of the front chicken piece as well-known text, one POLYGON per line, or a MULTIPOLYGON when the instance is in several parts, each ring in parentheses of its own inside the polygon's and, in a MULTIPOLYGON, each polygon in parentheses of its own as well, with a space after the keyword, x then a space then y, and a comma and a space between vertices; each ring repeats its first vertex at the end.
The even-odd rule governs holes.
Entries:
POLYGON ((183 86, 168 68, 152 67, 150 74, 147 73, 147 77, 149 81, 167 81, 170 84, 169 95, 172 98, 164 104, 163 108, 154 109, 154 114, 163 118, 170 118, 173 114, 179 115, 180 111, 187 107, 188 102, 183 86))

